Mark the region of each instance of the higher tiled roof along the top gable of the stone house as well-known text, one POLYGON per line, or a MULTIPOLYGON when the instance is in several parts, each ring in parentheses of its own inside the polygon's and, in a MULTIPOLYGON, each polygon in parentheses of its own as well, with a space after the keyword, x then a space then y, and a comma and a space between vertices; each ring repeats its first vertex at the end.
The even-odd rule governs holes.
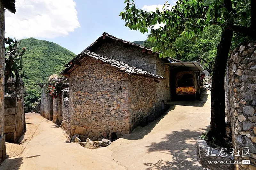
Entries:
MULTIPOLYGON (((68 67, 69 63, 70 62, 74 62, 76 61, 77 58, 79 58, 79 55, 81 55, 82 53, 84 53, 85 51, 91 51, 91 48, 97 44, 99 41, 101 41, 103 39, 103 36, 105 37, 108 37, 110 39, 113 39, 113 40, 116 40, 116 41, 119 41, 119 42, 122 42, 124 44, 127 44, 127 45, 130 45, 130 46, 135 46, 135 47, 138 47, 138 48, 141 48, 141 49, 146 49, 148 51, 151 51, 152 53, 157 53, 157 52, 154 52, 151 48, 149 47, 146 47, 146 46, 142 46, 142 45, 139 45, 139 44, 135 44, 135 43, 132 43, 130 41, 125 41, 123 39, 119 39, 119 38, 116 38, 114 37, 113 35, 110 35, 108 34, 107 32, 103 32, 102 36, 100 36, 98 39, 96 39, 96 41, 94 41, 90 46, 88 46, 87 48, 85 48, 84 51, 82 51, 80 54, 78 54, 74 59, 72 59, 71 61, 69 61, 65 66, 68 67)), ((157 53, 159 54, 159 53, 157 53)), ((174 58, 171 58, 171 57, 168 57, 172 62, 180 62, 180 60, 177 60, 177 59, 174 59, 174 58)), ((167 59, 168 59, 167 58, 167 59)))

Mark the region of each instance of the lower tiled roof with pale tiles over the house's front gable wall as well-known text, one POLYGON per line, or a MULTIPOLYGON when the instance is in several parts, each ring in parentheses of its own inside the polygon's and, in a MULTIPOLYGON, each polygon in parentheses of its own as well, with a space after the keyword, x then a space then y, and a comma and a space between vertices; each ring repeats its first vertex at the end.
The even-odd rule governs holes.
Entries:
MULTIPOLYGON (((90 51, 83 52, 80 55, 80 57, 76 60, 76 62, 81 64, 84 61, 84 58, 86 57, 84 55, 95 58, 95 59, 98 59, 98 60, 101 60, 105 63, 108 63, 111 66, 117 67, 121 71, 126 72, 127 74, 137 74, 137 75, 147 76, 147 77, 152 77, 152 78, 157 78, 157 79, 164 79, 164 77, 162 77, 160 75, 149 73, 148 71, 145 71, 145 70, 142 70, 140 68, 137 68, 137 67, 131 66, 129 64, 126 64, 121 60, 116 60, 114 58, 106 57, 104 55, 96 54, 96 53, 93 53, 93 52, 90 52, 90 51)), ((70 66, 68 66, 65 70, 63 70, 61 72, 61 74, 67 73, 71 68, 75 67, 75 65, 77 63, 73 63, 70 66)))

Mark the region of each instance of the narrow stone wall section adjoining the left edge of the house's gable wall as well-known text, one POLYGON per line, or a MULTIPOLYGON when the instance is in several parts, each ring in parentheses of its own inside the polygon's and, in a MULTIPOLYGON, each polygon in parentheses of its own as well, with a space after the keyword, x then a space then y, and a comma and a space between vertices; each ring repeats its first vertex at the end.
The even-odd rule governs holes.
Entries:
POLYGON ((61 128, 64 131, 66 131, 66 133, 70 136, 71 115, 70 115, 70 109, 69 109, 69 92, 63 91, 62 96, 63 96, 63 101, 62 101, 63 120, 62 120, 61 128))

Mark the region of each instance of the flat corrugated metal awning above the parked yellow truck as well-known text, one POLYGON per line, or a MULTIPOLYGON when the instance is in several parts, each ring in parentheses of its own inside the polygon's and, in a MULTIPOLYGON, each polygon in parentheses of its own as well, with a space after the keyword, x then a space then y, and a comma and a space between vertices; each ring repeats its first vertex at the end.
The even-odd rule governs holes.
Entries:
POLYGON ((167 65, 171 65, 175 67, 187 67, 189 70, 194 72, 201 72, 204 73, 204 68, 198 64, 196 61, 186 61, 186 62, 171 62, 171 63, 164 63, 167 65))

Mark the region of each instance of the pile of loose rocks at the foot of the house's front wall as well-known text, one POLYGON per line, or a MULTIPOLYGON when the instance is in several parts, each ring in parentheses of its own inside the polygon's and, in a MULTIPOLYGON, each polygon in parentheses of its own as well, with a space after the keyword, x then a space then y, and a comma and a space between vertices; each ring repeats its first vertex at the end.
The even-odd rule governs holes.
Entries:
POLYGON ((106 147, 111 144, 111 141, 108 139, 102 139, 101 141, 92 141, 89 138, 86 138, 83 135, 74 135, 72 138, 72 142, 75 142, 87 149, 97 149, 100 147, 106 147))

